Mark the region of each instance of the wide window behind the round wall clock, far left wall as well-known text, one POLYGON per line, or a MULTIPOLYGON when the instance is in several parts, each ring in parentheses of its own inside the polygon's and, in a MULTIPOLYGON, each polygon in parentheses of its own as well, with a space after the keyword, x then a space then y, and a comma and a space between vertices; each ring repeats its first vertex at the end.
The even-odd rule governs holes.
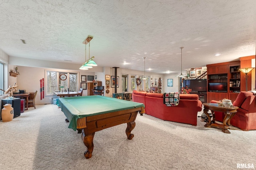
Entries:
POLYGON ((55 72, 47 71, 47 94, 53 94, 54 92, 63 87, 63 90, 69 90, 71 92, 77 92, 78 90, 78 75, 77 73, 69 72, 55 72), (68 78, 66 80, 60 80, 60 74, 66 75, 68 78))

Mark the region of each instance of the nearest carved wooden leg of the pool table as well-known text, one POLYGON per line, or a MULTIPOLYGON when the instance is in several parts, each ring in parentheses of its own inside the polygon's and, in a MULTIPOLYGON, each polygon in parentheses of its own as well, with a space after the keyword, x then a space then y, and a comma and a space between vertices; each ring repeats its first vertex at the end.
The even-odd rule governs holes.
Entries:
POLYGON ((86 152, 84 152, 84 157, 86 159, 89 159, 92 157, 92 150, 93 150, 93 137, 94 133, 88 133, 86 128, 82 130, 82 141, 84 142, 84 145, 87 147, 86 152))

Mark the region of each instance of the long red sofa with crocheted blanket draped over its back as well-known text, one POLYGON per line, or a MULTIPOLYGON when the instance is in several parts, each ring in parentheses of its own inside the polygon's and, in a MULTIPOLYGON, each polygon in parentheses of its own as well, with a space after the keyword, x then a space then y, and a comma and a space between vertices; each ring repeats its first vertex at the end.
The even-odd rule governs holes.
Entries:
POLYGON ((197 125, 197 112, 202 110, 202 102, 197 94, 180 94, 178 106, 167 107, 163 94, 133 90, 132 101, 143 103, 147 115, 194 126, 197 125))

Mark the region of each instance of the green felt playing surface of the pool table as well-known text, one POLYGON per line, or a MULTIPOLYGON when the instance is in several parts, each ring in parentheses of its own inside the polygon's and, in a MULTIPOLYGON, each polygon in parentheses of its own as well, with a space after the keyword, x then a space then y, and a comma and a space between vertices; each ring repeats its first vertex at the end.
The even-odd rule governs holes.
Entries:
POLYGON ((58 104, 70 122, 68 127, 74 130, 76 130, 76 122, 79 118, 145 107, 142 103, 100 95, 59 98, 58 104))

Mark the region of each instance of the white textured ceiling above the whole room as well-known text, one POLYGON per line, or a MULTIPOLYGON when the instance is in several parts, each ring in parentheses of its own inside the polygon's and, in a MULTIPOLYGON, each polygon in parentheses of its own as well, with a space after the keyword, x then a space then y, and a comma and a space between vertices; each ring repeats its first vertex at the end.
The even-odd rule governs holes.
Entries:
POLYGON ((98 66, 178 74, 180 47, 182 70, 255 55, 256 0, 0 1, 9 56, 82 64, 88 35, 98 66))

